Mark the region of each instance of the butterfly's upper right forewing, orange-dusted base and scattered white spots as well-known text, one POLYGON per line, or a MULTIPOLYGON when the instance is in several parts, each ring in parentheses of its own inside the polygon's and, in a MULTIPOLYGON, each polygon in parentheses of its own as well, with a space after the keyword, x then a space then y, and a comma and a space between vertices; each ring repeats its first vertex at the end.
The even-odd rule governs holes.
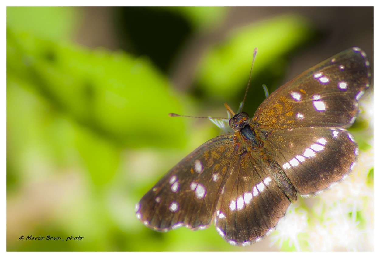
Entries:
POLYGON ((347 49, 281 86, 258 107, 252 120, 264 129, 348 127, 370 84, 363 50, 347 49))

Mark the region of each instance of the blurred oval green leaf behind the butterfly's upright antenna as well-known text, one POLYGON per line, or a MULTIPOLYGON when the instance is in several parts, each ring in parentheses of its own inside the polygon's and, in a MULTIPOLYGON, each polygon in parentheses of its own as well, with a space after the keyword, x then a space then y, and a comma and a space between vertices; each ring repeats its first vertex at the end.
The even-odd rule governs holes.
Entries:
POLYGON ((253 78, 267 67, 278 76, 286 64, 281 57, 305 44, 313 33, 309 20, 288 14, 236 29, 204 55, 198 67, 199 83, 207 95, 235 96, 247 84, 254 48, 258 52, 253 78))

